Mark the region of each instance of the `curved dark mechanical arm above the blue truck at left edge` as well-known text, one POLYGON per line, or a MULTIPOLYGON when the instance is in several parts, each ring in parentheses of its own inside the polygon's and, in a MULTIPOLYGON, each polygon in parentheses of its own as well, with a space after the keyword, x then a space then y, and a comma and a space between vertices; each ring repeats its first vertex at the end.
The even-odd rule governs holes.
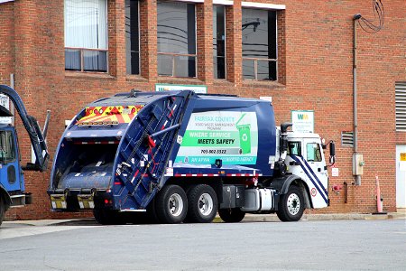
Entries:
MULTIPOLYGON (((27 130, 28 135, 30 136, 31 145, 35 154, 35 164, 29 163, 23 167, 24 170, 29 171, 39 171, 43 172, 47 168, 48 161, 50 159, 50 154, 48 154, 48 147, 45 142, 47 130, 48 130, 48 123, 50 119, 50 111, 47 112, 47 118, 45 120, 45 125, 43 131, 41 131, 40 126, 35 117, 28 115, 25 106, 23 105, 22 98, 18 95, 18 93, 5 85, 0 85, 0 94, 4 94, 10 98, 13 102, 15 109, 17 110, 18 114, 23 121, 23 126, 25 130, 27 130)), ((1 106, 0 106, 1 107, 1 106)), ((3 116, 11 115, 10 112, 5 107, 0 109, 3 116)))

